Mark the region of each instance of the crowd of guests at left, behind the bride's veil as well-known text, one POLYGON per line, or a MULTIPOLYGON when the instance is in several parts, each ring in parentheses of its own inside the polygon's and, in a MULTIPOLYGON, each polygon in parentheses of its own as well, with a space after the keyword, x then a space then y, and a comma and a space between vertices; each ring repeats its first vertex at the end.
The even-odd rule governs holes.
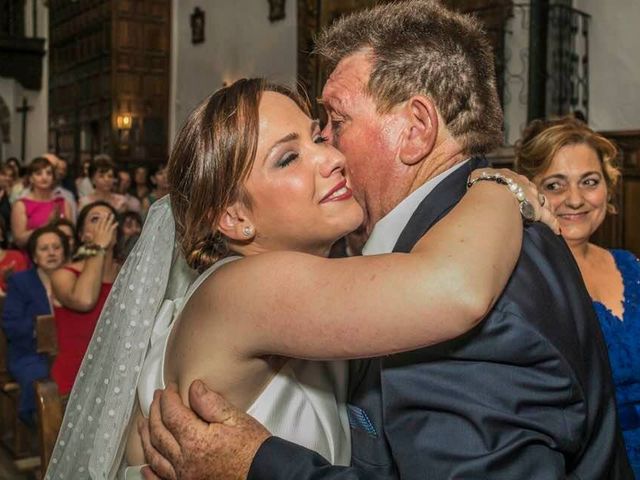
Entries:
POLYGON ((51 377, 67 395, 111 285, 149 206, 166 193, 164 166, 118 170, 107 155, 77 179, 53 154, 0 166, 1 325, 7 366, 20 385, 19 416, 34 424, 33 382, 51 377), (159 179, 160 183, 155 179, 159 179), (54 315, 59 353, 36 352, 35 320, 54 315))

